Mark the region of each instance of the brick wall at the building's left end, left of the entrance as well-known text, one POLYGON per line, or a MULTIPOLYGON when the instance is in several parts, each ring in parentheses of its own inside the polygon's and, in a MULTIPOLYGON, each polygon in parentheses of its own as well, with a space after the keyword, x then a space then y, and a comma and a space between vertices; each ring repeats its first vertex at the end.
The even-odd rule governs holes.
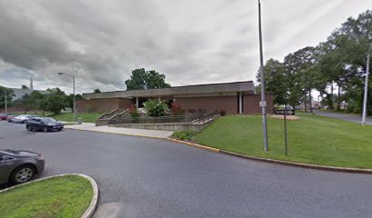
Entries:
POLYGON ((89 100, 78 100, 78 112, 105 113, 118 108, 129 108, 132 100, 123 98, 97 98, 89 100))

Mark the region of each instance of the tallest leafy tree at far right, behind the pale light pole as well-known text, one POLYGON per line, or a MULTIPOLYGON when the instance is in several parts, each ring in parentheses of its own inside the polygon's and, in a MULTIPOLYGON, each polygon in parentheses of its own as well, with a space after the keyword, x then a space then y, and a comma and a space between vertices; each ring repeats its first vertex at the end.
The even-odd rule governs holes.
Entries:
MULTIPOLYGON (((372 51, 372 11, 362 13, 357 18, 350 17, 337 28, 327 41, 321 44, 322 58, 319 69, 323 81, 330 85, 328 103, 333 104, 333 84, 337 84, 336 103, 340 109, 346 101, 349 111, 360 111, 363 95, 363 74, 366 71, 366 54, 372 51)), ((325 85, 326 85, 325 84, 325 85)), ((333 105, 329 105, 333 108, 333 105)), ((368 108, 372 103, 368 102, 368 108)), ((370 110, 369 110, 370 111, 370 110)))

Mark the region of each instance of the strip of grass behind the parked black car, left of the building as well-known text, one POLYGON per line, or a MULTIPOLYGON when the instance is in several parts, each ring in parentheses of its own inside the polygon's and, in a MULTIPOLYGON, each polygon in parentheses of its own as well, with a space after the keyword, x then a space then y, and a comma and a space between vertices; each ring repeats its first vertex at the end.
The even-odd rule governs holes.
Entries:
MULTIPOLYGON (((27 114, 40 115, 40 116, 43 115, 42 113, 32 113, 32 112, 27 113, 27 114)), ((77 113, 77 119, 81 118, 83 123, 96 123, 96 121, 97 121, 97 119, 100 115, 102 115, 102 114, 98 114, 98 113, 77 113)), ((62 113, 62 114, 45 113, 44 116, 53 117, 57 121, 65 121, 65 122, 73 122, 74 121, 74 113, 62 113)))

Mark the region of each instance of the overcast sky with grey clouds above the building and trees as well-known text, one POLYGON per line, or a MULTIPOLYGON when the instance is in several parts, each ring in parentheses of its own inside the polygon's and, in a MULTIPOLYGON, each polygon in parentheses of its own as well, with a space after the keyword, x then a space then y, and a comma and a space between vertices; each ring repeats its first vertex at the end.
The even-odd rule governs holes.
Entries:
MULTIPOLYGON (((317 45, 370 0, 262 0, 264 59, 317 45)), ((0 85, 125 89, 131 70, 171 85, 255 80, 256 0, 0 0, 0 85)))

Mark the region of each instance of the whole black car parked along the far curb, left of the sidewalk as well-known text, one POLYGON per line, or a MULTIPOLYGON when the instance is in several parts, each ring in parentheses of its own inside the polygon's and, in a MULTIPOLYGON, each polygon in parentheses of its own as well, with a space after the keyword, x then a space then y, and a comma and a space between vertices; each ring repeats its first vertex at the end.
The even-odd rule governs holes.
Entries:
POLYGON ((28 131, 61 131, 64 125, 51 117, 33 117, 26 124, 28 131))

